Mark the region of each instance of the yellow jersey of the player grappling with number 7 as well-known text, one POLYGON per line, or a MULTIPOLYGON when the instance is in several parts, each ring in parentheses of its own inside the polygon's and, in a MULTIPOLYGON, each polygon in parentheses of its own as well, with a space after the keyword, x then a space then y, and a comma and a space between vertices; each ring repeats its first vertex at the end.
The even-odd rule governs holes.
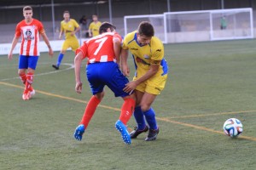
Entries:
POLYGON ((152 37, 148 45, 141 46, 137 42, 137 31, 133 31, 125 36, 122 48, 129 49, 138 71, 143 71, 139 77, 150 69, 150 63, 154 60, 160 61, 160 68, 157 75, 166 75, 168 66, 164 59, 164 45, 158 37, 152 37))

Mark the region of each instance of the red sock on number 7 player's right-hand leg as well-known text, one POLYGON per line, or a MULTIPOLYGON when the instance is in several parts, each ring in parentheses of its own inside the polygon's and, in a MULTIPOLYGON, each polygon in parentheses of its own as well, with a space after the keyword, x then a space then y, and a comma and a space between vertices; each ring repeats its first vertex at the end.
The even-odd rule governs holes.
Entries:
POLYGON ((124 104, 121 108, 121 115, 119 116, 119 120, 123 122, 125 125, 130 120, 131 115, 135 108, 135 100, 134 99, 125 99, 124 104))

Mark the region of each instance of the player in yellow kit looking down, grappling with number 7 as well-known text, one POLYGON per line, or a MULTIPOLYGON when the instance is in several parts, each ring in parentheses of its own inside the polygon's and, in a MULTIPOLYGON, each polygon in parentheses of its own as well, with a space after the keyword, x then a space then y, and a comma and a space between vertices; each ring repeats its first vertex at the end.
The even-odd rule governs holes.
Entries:
POLYGON ((136 67, 136 75, 132 82, 128 82, 124 91, 126 93, 135 90, 137 107, 134 117, 137 127, 130 133, 131 139, 137 138, 140 133, 148 131, 146 141, 156 139, 159 127, 155 120, 155 113, 151 105, 154 99, 163 90, 166 84, 168 66, 164 59, 164 46, 159 38, 154 37, 154 27, 146 21, 125 36, 121 57, 122 70, 125 76, 129 76, 127 65, 128 51, 131 52, 136 67), (145 122, 148 122, 148 125, 145 122))

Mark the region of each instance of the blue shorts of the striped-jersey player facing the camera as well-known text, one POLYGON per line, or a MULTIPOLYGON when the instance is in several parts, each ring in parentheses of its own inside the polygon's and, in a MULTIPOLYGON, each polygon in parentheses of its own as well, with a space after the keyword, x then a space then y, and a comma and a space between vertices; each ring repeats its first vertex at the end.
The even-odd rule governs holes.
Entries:
POLYGON ((38 56, 20 55, 19 69, 31 68, 32 70, 36 70, 37 64, 38 56))

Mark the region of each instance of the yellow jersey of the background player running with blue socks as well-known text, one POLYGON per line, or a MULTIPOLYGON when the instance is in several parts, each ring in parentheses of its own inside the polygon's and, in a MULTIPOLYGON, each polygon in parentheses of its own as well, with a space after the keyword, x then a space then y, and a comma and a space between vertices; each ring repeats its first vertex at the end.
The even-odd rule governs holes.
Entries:
POLYGON ((61 31, 64 32, 66 40, 70 38, 77 38, 75 35, 71 36, 71 32, 75 31, 75 29, 78 27, 79 24, 76 20, 70 19, 68 22, 65 20, 61 21, 61 31))

